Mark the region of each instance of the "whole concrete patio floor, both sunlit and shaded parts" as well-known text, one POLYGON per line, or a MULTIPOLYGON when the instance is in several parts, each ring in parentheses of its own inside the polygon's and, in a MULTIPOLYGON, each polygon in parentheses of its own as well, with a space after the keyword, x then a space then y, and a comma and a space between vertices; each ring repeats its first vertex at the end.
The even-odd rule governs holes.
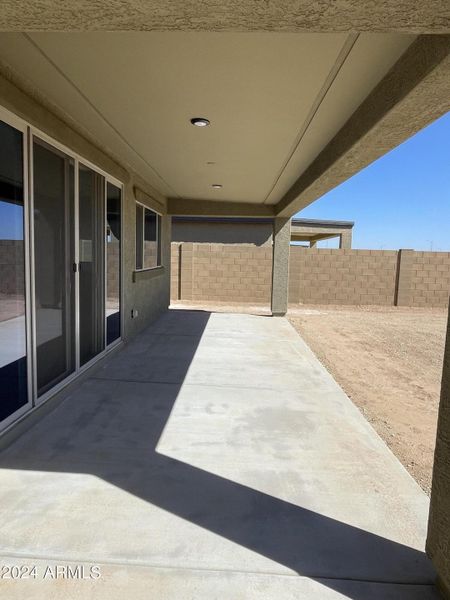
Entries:
POLYGON ((437 598, 426 495, 283 318, 170 310, 0 467, 8 599, 437 598))

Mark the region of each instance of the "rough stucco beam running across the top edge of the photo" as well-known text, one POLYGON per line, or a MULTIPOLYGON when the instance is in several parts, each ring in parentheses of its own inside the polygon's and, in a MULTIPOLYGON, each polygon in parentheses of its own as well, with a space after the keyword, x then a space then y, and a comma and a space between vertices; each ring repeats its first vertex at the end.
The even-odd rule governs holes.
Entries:
POLYGON ((446 33, 443 0, 380 2, 348 0, 90 0, 72 10, 56 0, 5 2, 0 27, 16 31, 284 31, 284 32, 414 32, 446 33))

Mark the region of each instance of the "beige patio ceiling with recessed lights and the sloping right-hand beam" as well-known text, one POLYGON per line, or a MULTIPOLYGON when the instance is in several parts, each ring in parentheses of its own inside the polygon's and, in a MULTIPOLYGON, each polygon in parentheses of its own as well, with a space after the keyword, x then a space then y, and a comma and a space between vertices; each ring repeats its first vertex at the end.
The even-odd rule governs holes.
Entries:
POLYGON ((55 25, 53 4, 15 21, 2 9, 1 27, 34 31, 0 34, 1 72, 131 167, 170 214, 289 217, 450 109, 449 35, 62 32, 93 27, 62 9, 55 25), (211 125, 193 127, 196 116, 211 125))

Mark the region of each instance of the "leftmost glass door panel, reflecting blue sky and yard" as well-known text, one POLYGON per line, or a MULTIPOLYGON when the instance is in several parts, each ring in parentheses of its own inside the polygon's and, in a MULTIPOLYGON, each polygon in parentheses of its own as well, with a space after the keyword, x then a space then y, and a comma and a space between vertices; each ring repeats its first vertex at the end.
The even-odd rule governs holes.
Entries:
POLYGON ((23 133, 0 121, 0 421, 29 402, 23 133))

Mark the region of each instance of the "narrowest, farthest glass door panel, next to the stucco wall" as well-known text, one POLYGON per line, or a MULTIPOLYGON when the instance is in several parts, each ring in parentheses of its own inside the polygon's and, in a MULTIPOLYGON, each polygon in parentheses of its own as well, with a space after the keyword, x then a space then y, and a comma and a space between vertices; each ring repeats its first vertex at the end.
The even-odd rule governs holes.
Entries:
POLYGON ((106 344, 120 338, 121 190, 106 184, 106 344))

